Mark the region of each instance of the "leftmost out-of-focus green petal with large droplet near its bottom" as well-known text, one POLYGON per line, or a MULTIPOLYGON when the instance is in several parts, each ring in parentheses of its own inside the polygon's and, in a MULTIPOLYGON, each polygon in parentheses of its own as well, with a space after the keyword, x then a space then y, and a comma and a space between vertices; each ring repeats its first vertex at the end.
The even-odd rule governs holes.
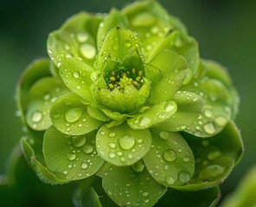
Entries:
POLYGON ((26 121, 34 130, 45 130, 52 125, 49 117, 51 103, 57 97, 69 92, 57 78, 42 78, 29 90, 26 121))

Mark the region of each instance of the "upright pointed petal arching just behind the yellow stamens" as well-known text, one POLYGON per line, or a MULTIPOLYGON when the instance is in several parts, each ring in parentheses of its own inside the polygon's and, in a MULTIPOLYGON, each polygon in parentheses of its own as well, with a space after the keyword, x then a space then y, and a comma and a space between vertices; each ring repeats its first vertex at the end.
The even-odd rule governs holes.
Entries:
POLYGON ((99 51, 96 66, 104 69, 108 65, 106 66, 106 72, 112 72, 113 66, 109 66, 110 64, 123 63, 133 56, 138 60, 131 59, 130 61, 138 61, 138 66, 135 66, 135 68, 140 68, 142 65, 140 60, 140 56, 142 56, 141 42, 136 34, 128 29, 117 26, 106 34, 106 38, 99 51))

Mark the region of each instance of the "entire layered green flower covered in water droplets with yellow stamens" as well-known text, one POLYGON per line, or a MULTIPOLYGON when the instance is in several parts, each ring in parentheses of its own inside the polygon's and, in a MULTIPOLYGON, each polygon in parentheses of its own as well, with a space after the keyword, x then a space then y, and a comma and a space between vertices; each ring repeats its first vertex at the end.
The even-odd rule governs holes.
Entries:
MULTIPOLYGON (((49 34, 48 55, 17 87, 22 150, 40 179, 99 176, 120 206, 153 206, 166 191, 176 206, 189 193, 179 190, 203 190, 216 203, 216 185, 243 152, 239 98, 227 71, 200 59, 182 22, 150 0, 81 12, 49 34)), ((75 203, 87 196, 100 205, 88 180, 75 203)))

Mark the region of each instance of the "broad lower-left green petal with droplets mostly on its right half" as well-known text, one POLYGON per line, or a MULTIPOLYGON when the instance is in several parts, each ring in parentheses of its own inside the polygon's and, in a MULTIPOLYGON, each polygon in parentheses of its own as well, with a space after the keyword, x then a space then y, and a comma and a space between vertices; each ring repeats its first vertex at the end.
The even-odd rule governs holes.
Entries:
POLYGON ((50 171, 68 180, 95 174, 104 162, 96 152, 95 135, 96 131, 80 136, 64 135, 50 127, 43 140, 43 154, 50 171))

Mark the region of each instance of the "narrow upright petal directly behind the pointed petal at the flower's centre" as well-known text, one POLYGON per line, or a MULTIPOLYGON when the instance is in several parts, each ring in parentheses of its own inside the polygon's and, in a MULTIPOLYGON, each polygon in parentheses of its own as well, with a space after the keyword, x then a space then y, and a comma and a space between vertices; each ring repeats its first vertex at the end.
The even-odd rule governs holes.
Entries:
POLYGON ((105 17, 104 21, 99 24, 98 34, 97 34, 97 43, 98 48, 101 47, 102 41, 104 41, 106 34, 112 28, 120 26, 126 28, 127 18, 121 14, 117 9, 112 9, 110 13, 105 17))

